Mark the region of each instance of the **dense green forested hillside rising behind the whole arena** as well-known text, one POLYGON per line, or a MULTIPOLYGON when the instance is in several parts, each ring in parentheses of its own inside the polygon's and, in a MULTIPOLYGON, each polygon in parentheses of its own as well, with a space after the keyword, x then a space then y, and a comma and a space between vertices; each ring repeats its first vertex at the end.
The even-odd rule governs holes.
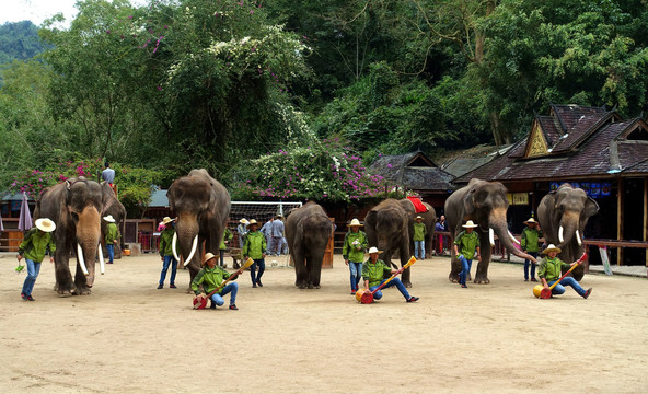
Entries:
POLYGON ((303 182, 316 184, 351 157, 360 169, 513 142, 549 103, 648 109, 645 0, 79 5, 68 30, 39 31, 43 61, 2 72, 0 189, 86 158, 160 170, 162 186, 204 166, 234 194, 273 197, 294 158, 313 160, 303 182))

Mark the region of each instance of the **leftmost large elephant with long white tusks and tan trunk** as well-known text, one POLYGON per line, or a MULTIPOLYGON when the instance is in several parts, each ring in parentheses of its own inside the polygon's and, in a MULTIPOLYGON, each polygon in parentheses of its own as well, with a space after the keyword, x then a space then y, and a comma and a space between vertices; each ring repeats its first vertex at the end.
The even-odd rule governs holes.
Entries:
POLYGON ((83 176, 69 178, 40 192, 34 218, 49 218, 56 223, 55 290, 59 294, 91 293, 95 256, 103 258, 99 253, 101 218, 111 198, 114 198, 113 190, 106 190, 99 183, 83 176), (77 254, 73 282, 68 263, 72 248, 77 254))

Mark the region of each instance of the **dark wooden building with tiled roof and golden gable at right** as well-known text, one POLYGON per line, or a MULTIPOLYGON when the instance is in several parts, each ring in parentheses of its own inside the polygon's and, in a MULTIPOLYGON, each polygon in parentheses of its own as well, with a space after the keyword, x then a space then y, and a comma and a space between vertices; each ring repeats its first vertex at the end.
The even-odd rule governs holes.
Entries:
MULTIPOLYGON (((529 135, 499 158, 455 178, 501 182, 510 192, 509 225, 520 232, 542 197, 568 182, 599 204, 585 237, 616 247, 617 264, 646 264, 648 125, 605 107, 552 105, 529 135)), ((592 241, 595 243, 597 241, 592 241)), ((592 251, 590 251, 592 252, 592 251)), ((595 255, 590 253, 590 257, 595 255)))

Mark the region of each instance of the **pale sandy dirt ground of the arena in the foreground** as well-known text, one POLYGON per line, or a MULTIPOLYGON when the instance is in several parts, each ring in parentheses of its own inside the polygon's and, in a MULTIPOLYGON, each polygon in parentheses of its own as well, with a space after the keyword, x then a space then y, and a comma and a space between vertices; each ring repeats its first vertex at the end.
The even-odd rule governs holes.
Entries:
MULTIPOLYGON (((107 266, 88 297, 60 298, 44 263, 35 302, 0 258, 2 393, 645 393, 648 282, 587 275, 537 300, 522 267, 493 263, 488 286, 448 281, 449 259, 413 267, 414 296, 371 305, 349 294, 339 255, 322 289, 269 267, 264 287, 239 279, 239 311, 194 311, 180 289, 157 290, 155 255, 107 266)), ((279 259, 279 264, 284 264, 279 259)), ((231 262, 230 262, 231 267, 231 262)), ((230 268, 231 269, 231 268, 230 268)), ((473 267, 475 269, 475 267, 473 267)), ((99 271, 99 264, 97 264, 99 271)), ((474 271, 473 271, 474 273, 474 271)), ((229 302, 229 296, 225 297, 229 302)))

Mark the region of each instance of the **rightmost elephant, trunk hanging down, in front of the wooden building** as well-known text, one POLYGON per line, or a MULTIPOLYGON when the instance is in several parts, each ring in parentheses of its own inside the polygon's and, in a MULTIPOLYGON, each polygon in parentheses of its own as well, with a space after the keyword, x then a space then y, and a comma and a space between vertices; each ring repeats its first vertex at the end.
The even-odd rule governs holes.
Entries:
MULTIPOLYGON (((562 250, 558 255, 562 260, 571 263, 582 255, 585 227, 588 219, 598 212, 597 201, 588 197, 583 189, 566 183, 542 198, 537 220, 547 243, 562 250)), ((582 279, 585 267, 580 265, 571 275, 576 280, 582 279)))

